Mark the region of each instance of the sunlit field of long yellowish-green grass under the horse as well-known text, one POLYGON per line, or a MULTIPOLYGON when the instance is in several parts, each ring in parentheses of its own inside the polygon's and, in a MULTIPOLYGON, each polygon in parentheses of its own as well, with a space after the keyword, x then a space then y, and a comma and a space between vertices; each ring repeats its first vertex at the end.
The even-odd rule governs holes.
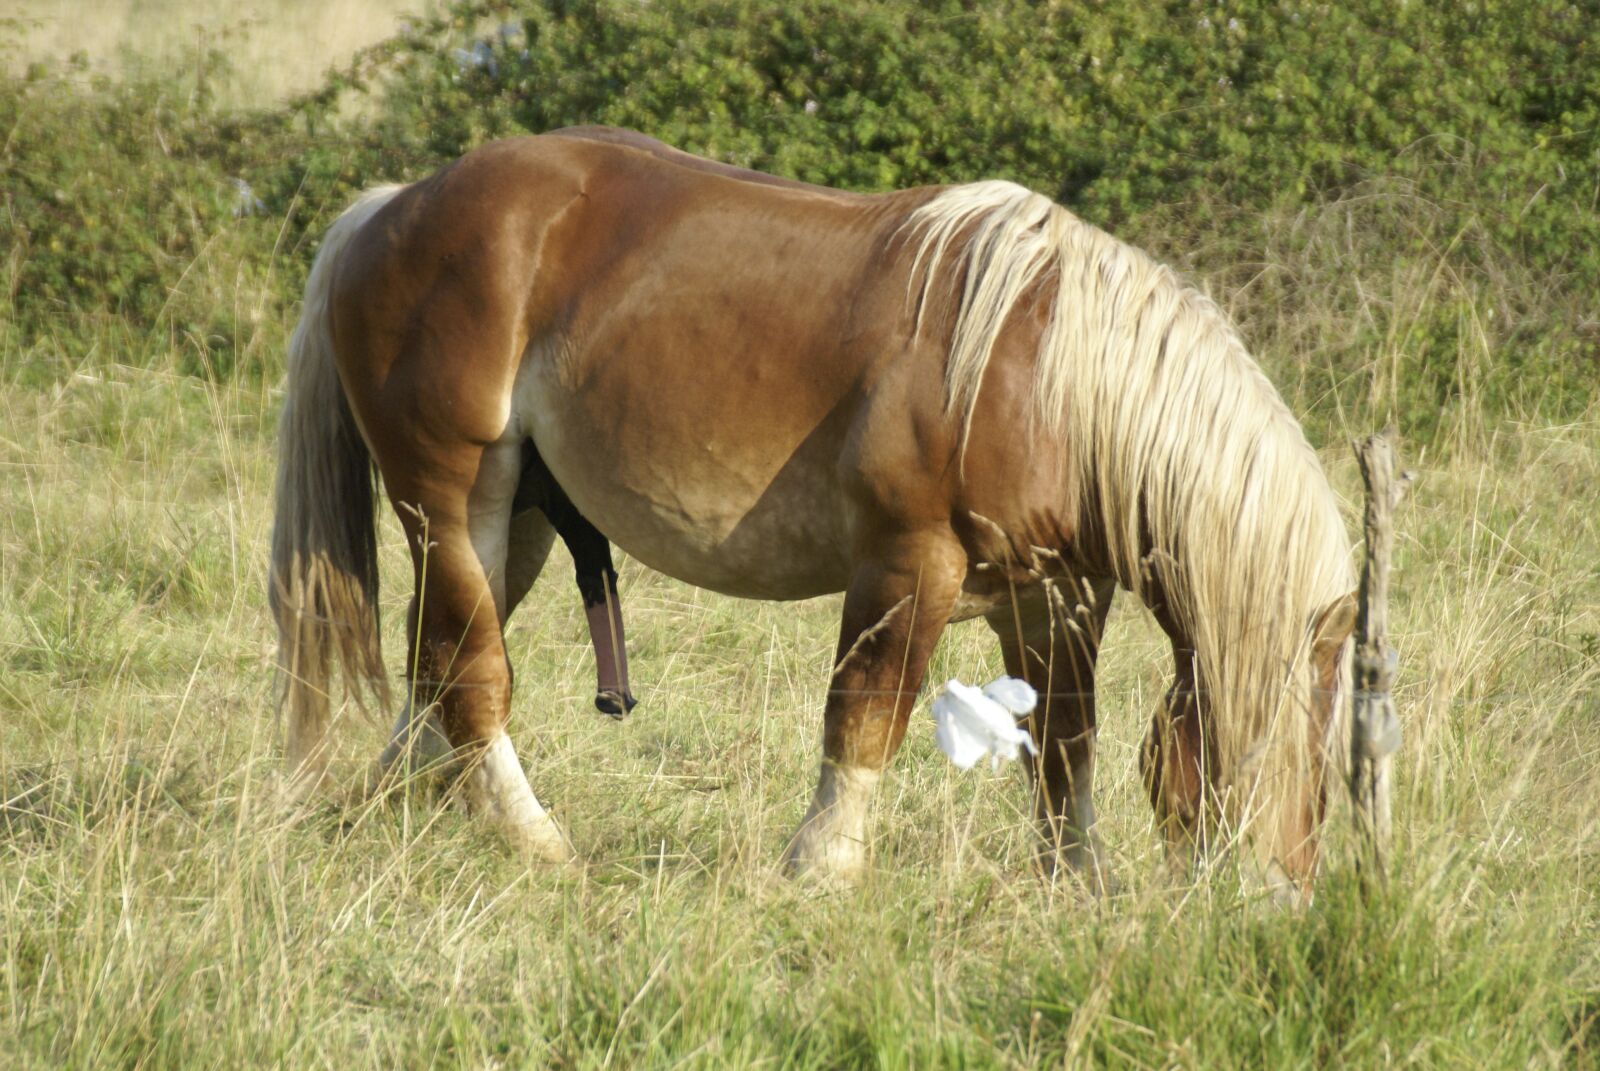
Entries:
MULTIPOLYGON (((251 301, 216 271, 202 283, 251 301)), ((1443 299, 1398 274, 1362 296, 1418 319, 1443 299)), ((1253 322, 1290 346, 1360 314, 1253 322)), ((254 330, 245 351, 282 338, 254 330)), ((510 626, 510 728, 584 877, 518 866, 422 792, 288 821, 264 605, 277 386, 181 375, 181 341, 134 367, 110 330, 42 381, 35 341, 0 339, 3 1066, 1600 1066, 1600 411, 1507 421, 1469 397, 1430 448, 1403 445, 1395 876, 1362 895, 1336 812, 1315 903, 1286 913, 1226 863, 1165 872, 1136 756, 1166 644, 1136 607, 1102 661, 1122 895, 1040 882, 1021 772, 952 770, 925 704, 870 876, 826 892, 776 861, 838 600, 734 602, 626 564, 643 706, 614 724, 589 706, 560 549, 510 626)), ((1283 386, 1354 536, 1344 437, 1373 400, 1283 386)), ((392 517, 382 544, 398 668, 392 517)), ((930 679, 997 672, 966 624, 930 679)), ((355 781, 386 725, 350 709, 341 728, 355 781)))

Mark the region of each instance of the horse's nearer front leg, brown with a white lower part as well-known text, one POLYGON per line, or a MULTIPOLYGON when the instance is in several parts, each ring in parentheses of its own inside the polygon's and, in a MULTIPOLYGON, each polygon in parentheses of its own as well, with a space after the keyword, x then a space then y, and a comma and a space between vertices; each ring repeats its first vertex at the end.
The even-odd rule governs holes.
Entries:
POLYGON ((906 736, 965 575, 949 530, 886 540, 856 567, 822 716, 822 768, 789 845, 790 872, 850 879, 866 868, 867 804, 906 736))

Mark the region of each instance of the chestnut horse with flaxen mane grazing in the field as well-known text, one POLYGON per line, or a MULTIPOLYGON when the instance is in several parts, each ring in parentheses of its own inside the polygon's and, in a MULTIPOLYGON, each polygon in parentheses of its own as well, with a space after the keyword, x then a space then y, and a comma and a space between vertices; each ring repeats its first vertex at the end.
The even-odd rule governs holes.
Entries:
POLYGON ((502 629, 571 509, 701 588, 845 592, 794 871, 862 868, 934 642, 982 616, 1042 695, 1040 863, 1099 884, 1094 661, 1123 588, 1173 647, 1141 762, 1170 844, 1248 831, 1312 877, 1354 616, 1328 480, 1210 299, 1038 194, 840 192, 603 128, 365 194, 312 267, 282 424, 301 786, 334 658, 382 690, 373 466, 414 572, 384 762, 445 751, 534 858, 573 850, 506 735, 502 629))

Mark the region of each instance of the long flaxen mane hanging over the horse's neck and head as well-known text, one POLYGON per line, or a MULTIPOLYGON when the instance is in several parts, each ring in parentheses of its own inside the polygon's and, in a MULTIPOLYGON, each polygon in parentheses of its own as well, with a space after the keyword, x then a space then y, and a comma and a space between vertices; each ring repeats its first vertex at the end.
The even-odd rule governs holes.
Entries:
MULTIPOLYGON (((955 186, 906 221, 923 312, 952 280, 946 405, 970 424, 1019 301, 1050 301, 1032 434, 1077 466, 1117 580, 1160 584, 1195 645, 1227 816, 1306 772, 1314 618, 1354 586, 1317 455, 1218 306, 1139 250, 1011 183, 955 186)), ((965 434, 965 432, 963 432, 965 434)))

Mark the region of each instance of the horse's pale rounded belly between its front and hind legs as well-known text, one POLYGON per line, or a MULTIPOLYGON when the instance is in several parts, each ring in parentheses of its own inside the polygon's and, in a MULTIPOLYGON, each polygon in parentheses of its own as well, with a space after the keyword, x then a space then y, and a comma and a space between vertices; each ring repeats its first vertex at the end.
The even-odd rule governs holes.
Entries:
POLYGON ((550 474, 630 557, 749 599, 806 599, 850 581, 830 437, 774 451, 712 427, 685 435, 659 410, 605 405, 547 376, 520 386, 518 416, 550 474))

